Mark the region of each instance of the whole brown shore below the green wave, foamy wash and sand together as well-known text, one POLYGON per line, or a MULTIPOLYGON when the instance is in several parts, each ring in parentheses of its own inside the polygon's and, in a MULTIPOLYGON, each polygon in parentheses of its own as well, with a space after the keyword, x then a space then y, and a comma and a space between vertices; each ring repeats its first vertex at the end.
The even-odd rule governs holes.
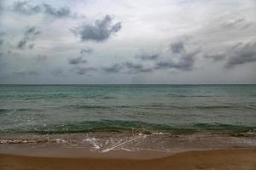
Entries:
POLYGON ((0 169, 256 170, 250 135, 73 133, 48 135, 49 140, 7 135, 0 140, 0 169))

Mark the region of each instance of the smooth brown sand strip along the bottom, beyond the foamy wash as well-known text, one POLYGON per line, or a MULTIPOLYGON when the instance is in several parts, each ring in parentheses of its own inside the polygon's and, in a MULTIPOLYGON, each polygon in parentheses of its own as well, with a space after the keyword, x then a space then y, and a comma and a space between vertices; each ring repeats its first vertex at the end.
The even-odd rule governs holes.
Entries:
MULTIPOLYGON (((125 151, 123 152, 125 154, 125 151)), ((14 156, 0 155, 1 170, 51 170, 51 169, 247 169, 256 170, 256 150, 197 150, 177 153, 145 160, 131 157, 119 158, 119 155, 108 157, 47 157, 47 156, 14 156)))

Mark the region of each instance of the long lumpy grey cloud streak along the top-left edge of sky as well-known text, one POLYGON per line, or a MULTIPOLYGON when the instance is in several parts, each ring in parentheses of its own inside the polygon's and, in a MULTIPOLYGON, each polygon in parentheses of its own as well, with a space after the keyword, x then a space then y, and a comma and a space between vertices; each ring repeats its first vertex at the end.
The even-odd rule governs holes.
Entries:
POLYGON ((71 14, 70 8, 68 7, 61 7, 61 8, 54 8, 47 3, 39 4, 39 5, 32 5, 27 1, 16 1, 13 4, 13 10, 19 14, 46 14, 55 18, 64 18, 64 17, 73 17, 74 15, 71 14))

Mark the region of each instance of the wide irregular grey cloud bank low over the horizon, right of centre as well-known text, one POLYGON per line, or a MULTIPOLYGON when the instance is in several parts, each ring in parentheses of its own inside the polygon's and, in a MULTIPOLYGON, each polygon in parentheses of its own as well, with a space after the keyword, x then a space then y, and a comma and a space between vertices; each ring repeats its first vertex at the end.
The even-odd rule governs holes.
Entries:
POLYGON ((179 41, 171 43, 168 53, 170 52, 172 57, 168 57, 166 59, 163 59, 164 55, 161 54, 141 54, 136 56, 137 59, 152 60, 153 62, 151 64, 154 66, 151 67, 141 63, 123 62, 105 67, 102 70, 108 73, 118 73, 122 71, 128 74, 148 73, 154 70, 164 70, 170 68, 182 71, 191 71, 195 64, 195 56, 196 54, 199 54, 201 50, 194 49, 188 51, 185 48, 185 43, 183 41, 179 41))

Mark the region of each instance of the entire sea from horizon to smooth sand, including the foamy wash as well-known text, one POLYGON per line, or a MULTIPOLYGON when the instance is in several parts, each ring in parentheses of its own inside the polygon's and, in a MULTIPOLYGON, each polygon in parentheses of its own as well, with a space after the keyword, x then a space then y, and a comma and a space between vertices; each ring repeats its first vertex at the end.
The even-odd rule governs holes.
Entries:
POLYGON ((0 153, 255 147, 256 85, 0 85, 0 153))

